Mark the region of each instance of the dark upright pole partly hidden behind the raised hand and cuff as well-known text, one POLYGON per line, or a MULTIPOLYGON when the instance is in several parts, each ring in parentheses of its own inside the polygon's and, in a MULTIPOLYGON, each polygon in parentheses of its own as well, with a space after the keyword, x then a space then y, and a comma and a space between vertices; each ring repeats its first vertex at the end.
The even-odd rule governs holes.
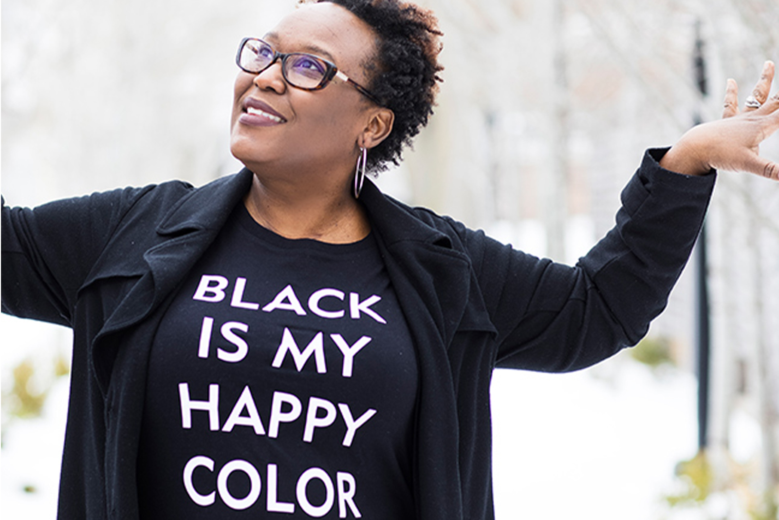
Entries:
MULTIPOLYGON (((703 38, 700 35, 700 19, 695 27, 695 48, 693 50, 693 69, 701 100, 708 95, 706 62, 703 57, 703 38)), ((696 110, 693 119, 696 125, 703 122, 700 111, 696 110)), ((703 450, 708 445, 709 428, 709 373, 710 373, 710 325, 709 325, 709 287, 708 259, 706 245, 706 225, 700 231, 696 247, 696 328, 697 328, 697 366, 698 375, 698 447, 703 450)))

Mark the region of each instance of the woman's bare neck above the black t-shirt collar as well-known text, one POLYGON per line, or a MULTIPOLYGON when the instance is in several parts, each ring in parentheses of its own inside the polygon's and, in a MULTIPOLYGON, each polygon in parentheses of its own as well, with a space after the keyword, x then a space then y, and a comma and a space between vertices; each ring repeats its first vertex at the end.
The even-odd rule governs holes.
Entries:
POLYGON ((298 186, 262 181, 255 175, 244 203, 259 225, 287 239, 351 243, 364 239, 370 232, 361 203, 348 189, 332 184, 298 186))

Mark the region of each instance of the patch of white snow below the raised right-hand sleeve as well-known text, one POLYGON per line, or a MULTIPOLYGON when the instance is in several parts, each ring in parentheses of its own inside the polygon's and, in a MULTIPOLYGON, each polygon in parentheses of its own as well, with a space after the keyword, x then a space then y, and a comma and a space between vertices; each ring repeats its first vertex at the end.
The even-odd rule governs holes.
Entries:
POLYGON ((696 453, 695 378, 629 359, 569 374, 498 370, 492 416, 499 520, 664 518, 675 465, 696 453))

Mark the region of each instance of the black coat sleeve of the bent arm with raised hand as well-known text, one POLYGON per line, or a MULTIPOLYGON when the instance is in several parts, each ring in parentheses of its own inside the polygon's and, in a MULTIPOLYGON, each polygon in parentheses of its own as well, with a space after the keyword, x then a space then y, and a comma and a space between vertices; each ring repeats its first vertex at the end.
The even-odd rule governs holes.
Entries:
POLYGON ((686 265, 716 177, 664 170, 665 151, 647 151, 615 227, 576 266, 471 232, 467 247, 498 331, 497 366, 579 370, 647 333, 686 265))

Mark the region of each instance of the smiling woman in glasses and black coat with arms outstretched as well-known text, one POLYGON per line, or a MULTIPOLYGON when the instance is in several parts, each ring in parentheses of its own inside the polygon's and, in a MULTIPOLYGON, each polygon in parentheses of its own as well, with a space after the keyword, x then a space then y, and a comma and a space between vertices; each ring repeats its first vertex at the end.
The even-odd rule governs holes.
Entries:
POLYGON ((647 152, 576 267, 405 207, 364 175, 427 122, 438 36, 392 0, 305 5, 241 42, 238 175, 3 207, 3 311, 74 330, 60 518, 492 518, 495 366, 635 344, 713 168, 779 179, 768 63, 744 114, 730 82, 726 119, 647 152))

